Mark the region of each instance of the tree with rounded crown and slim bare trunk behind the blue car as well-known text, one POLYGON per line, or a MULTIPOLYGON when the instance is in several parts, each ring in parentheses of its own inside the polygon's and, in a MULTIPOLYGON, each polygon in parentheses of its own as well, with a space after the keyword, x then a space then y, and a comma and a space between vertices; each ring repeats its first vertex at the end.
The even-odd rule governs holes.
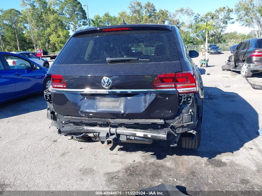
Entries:
POLYGON ((16 34, 17 49, 20 50, 18 34, 21 32, 21 12, 16 9, 8 9, 3 11, 3 24, 16 34))

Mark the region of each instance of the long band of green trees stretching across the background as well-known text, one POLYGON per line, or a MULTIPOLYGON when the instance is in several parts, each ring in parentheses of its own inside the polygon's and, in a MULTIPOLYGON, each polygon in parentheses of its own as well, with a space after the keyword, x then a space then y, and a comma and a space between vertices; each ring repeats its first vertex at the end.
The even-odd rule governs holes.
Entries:
MULTIPOLYGON (((0 9, 0 50, 35 50, 46 48, 49 52, 60 51, 69 39, 69 33, 87 25, 86 11, 78 0, 20 0, 23 10, 0 9)), ((190 7, 170 12, 157 10, 153 3, 142 4, 131 0, 127 10, 117 16, 105 12, 89 20, 91 26, 101 27, 122 24, 164 24, 166 20, 176 25, 186 45, 240 42, 262 36, 261 0, 242 0, 235 6, 237 21, 252 27, 249 34, 224 33, 233 23, 233 9, 220 7, 214 12, 199 15, 190 7)), ((141 46, 142 47, 142 46, 141 46)))

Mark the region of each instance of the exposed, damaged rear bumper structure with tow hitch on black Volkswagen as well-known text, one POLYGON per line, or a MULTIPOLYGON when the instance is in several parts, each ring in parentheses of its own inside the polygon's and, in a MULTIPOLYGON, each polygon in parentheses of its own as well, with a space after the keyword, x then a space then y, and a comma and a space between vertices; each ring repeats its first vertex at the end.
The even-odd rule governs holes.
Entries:
MULTIPOLYGON (((184 94, 179 97, 181 106, 178 114, 172 119, 109 119, 63 116, 52 108, 50 91, 45 91, 48 104, 47 118, 52 120, 58 133, 74 137, 89 136, 93 140, 107 142, 150 143, 153 140, 164 140, 176 146, 180 133, 197 135, 201 127, 202 112, 196 111, 203 105, 198 94, 184 94), (198 116, 197 116, 198 115, 198 116)), ((193 136, 194 137, 194 136, 193 136)))

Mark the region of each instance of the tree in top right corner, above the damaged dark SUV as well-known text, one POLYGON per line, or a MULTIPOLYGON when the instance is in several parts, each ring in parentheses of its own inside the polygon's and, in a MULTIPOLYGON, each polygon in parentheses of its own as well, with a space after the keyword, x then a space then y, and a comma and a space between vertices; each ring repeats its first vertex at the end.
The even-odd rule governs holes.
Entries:
POLYGON ((262 1, 241 0, 235 5, 237 21, 253 28, 256 37, 262 37, 262 1))

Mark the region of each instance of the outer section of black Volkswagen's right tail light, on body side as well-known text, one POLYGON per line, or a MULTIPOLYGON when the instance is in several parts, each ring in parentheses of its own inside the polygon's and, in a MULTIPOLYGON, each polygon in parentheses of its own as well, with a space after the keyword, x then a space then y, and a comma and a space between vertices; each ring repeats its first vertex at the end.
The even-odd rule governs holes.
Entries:
POLYGON ((175 73, 175 89, 179 94, 197 92, 197 76, 195 71, 175 73))

